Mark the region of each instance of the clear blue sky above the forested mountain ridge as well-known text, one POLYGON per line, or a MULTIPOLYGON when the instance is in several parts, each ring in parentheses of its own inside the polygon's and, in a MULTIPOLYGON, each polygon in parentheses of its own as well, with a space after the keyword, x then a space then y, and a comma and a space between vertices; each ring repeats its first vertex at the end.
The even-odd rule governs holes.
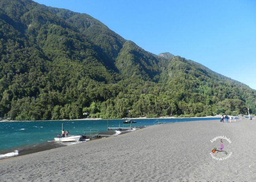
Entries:
POLYGON ((35 0, 87 13, 144 50, 170 52, 256 89, 254 0, 35 0))

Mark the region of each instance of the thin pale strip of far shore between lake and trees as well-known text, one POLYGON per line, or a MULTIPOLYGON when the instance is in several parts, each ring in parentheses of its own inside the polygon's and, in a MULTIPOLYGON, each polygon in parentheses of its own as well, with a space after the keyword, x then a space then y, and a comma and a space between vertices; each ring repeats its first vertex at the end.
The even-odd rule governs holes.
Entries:
MULTIPOLYGON (((174 117, 174 116, 161 116, 158 118, 146 118, 144 117, 139 117, 139 118, 119 118, 119 119, 184 119, 184 118, 220 118, 221 115, 215 115, 215 116, 203 116, 203 117, 174 117)), ((60 120, 7 120, 3 119, 0 122, 17 122, 17 121, 22 121, 22 122, 30 122, 30 121, 80 121, 80 120, 106 120, 102 118, 83 118, 83 119, 60 119, 60 120)))

